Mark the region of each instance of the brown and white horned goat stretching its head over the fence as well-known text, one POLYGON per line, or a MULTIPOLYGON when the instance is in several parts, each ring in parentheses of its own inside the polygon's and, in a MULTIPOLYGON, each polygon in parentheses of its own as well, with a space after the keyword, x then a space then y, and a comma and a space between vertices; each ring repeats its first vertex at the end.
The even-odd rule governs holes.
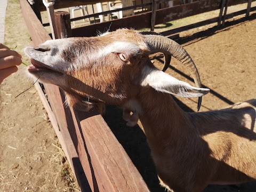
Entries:
MULTIPOLYGON (((202 97, 210 90, 201 88, 195 63, 171 39, 118 29, 98 37, 46 41, 26 47, 25 53, 32 63, 29 74, 60 86, 69 105, 86 109, 100 103, 116 105, 124 109, 130 126, 139 118, 159 180, 167 189, 197 192, 209 184, 256 179, 256 100, 185 113, 171 94, 202 97), (181 61, 197 87, 156 69, 149 59, 154 52, 181 61)), ((198 109, 200 104, 199 99, 198 109)))

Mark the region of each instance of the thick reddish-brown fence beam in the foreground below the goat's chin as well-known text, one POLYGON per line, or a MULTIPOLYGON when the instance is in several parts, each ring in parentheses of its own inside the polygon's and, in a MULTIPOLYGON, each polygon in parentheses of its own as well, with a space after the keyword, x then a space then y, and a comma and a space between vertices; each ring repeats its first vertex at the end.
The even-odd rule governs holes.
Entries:
POLYGON ((149 191, 102 116, 95 109, 86 113, 71 108, 71 113, 79 138, 78 146, 87 149, 78 151, 78 156, 81 159, 86 156, 91 159, 86 166, 83 163, 85 172, 91 174, 91 178, 88 179, 91 188, 94 191, 106 192, 149 191))

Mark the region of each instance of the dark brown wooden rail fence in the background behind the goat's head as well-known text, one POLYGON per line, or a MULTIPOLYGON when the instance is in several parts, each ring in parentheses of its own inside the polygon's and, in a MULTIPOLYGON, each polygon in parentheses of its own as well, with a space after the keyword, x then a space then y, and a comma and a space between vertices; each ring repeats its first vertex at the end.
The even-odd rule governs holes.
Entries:
MULTIPOLYGON (((38 1, 38 0, 35 0, 38 1)), ((88 4, 95 4, 97 2, 107 2, 108 0, 102 0, 102 1, 97 1, 97 0, 84 0, 84 1, 68 1, 68 0, 57 0, 55 1, 54 4, 54 9, 61 9, 61 8, 66 8, 69 6, 77 6, 77 5, 88 5, 88 4)), ((125 17, 122 19, 116 19, 116 20, 111 20, 111 21, 106 21, 102 23, 95 23, 93 25, 88 25, 80 28, 74 28, 72 29, 72 36, 73 37, 79 37, 79 36, 84 36, 84 37, 90 37, 90 36, 95 36, 97 35, 97 31, 105 31, 108 29, 110 26, 111 30, 116 30, 118 28, 133 28, 133 29, 142 29, 142 28, 150 28, 151 30, 154 30, 154 26, 177 20, 177 19, 182 19, 186 17, 190 17, 196 14, 200 13, 205 13, 209 11, 214 11, 218 9, 223 9, 224 6, 232 6, 232 5, 237 5, 241 3, 248 3, 247 10, 244 10, 243 12, 239 12, 237 14, 243 14, 249 13, 250 11, 250 6, 252 0, 201 0, 201 1, 196 1, 193 3, 189 4, 183 4, 179 6, 173 6, 173 7, 167 7, 164 9, 159 9, 157 10, 156 7, 157 5, 163 2, 168 2, 169 0, 152 0, 151 3, 144 3, 141 5, 134 5, 134 6, 129 6, 129 7, 123 7, 122 9, 117 9, 114 11, 105 11, 101 13, 94 13, 90 15, 85 15, 83 17, 78 17, 78 18, 73 18, 71 21, 76 21, 76 20, 81 20, 81 19, 86 19, 86 18, 91 18, 91 17, 98 17, 101 14, 109 14, 111 12, 117 12, 117 11, 122 11, 122 10, 129 10, 129 9, 135 9, 136 7, 139 6, 151 6, 150 11, 148 12, 142 12, 139 14, 135 14, 130 17, 125 17)), ((255 1, 255 0, 254 0, 255 1)), ((45 10, 45 7, 43 6, 42 3, 38 3, 37 6, 35 6, 35 12, 37 12, 38 17, 40 17, 38 11, 40 10, 45 10)), ((251 9, 251 11, 255 11, 255 7, 251 9)), ((234 17, 236 14, 230 14, 227 15, 227 18, 234 17)), ((218 22, 220 19, 225 20, 225 17, 221 17, 220 15, 219 18, 214 18, 214 20, 209 20, 209 22, 218 22)), ((224 14, 226 16, 226 13, 224 14)), ((204 23, 201 23, 202 25, 205 25, 207 21, 204 23)), ((45 23, 44 26, 49 25, 49 23, 45 23)), ((198 26, 198 25, 195 25, 198 26)), ((191 28, 191 26, 190 26, 191 28)), ((186 28, 185 28, 186 30, 186 28)))

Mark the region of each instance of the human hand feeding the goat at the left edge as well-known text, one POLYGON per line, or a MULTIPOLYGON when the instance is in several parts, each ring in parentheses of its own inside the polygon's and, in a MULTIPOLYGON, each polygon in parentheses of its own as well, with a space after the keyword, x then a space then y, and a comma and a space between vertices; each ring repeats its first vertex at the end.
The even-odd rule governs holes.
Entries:
POLYGON ((17 66, 21 64, 21 58, 21 54, 0 43, 0 84, 18 70, 17 66))

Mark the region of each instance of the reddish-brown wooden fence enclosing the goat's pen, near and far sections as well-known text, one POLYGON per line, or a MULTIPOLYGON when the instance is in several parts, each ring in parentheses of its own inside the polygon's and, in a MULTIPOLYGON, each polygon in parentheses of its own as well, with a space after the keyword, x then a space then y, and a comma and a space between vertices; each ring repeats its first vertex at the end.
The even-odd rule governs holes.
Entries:
MULTIPOLYGON (((54 7, 59 9, 95 2, 94 0, 62 0, 56 1, 54 7)), ((230 0, 229 5, 244 2, 246 1, 230 0)), ((153 0, 152 5, 155 6, 156 3, 159 2, 154 2, 153 0)), ((44 10, 45 7, 42 7, 37 1, 33 11, 27 0, 20 0, 20 5, 34 46, 51 39, 40 21, 40 10, 44 10)), ((73 30, 70 29, 69 14, 67 12, 56 12, 54 16, 54 35, 55 38, 92 36, 95 31, 102 31, 108 28, 110 23, 112 23, 111 30, 121 27, 150 28, 154 18, 155 25, 217 10, 220 9, 220 5, 220 0, 202 0, 162 10, 152 9, 154 13, 141 13, 132 17, 97 23, 73 30)), ((246 12, 246 10, 243 12, 246 12)), ((212 21, 215 22, 216 19, 212 21)), ((203 24, 205 23, 200 25, 203 24)), ((72 107, 64 107, 65 95, 58 86, 39 83, 35 85, 82 191, 149 191, 139 171, 97 111, 84 112, 77 111, 72 107), (45 90, 46 94, 43 90, 45 90)))

